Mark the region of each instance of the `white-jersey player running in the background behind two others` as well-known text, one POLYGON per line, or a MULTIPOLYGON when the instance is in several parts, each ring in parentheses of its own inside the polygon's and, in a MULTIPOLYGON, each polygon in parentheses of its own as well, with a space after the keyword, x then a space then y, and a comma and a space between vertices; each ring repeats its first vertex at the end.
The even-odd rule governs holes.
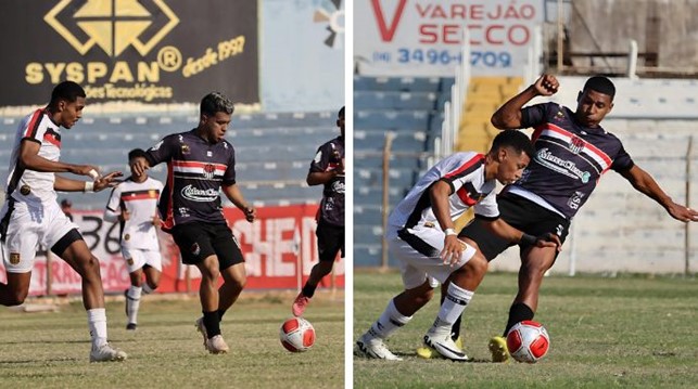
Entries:
MULTIPOLYGON (((145 160, 145 152, 140 148, 128 153, 128 165, 145 160)), ((141 294, 151 294, 160 284, 163 270, 156 228, 161 225, 157 215, 157 200, 163 183, 145 172, 138 174, 131 168, 131 176, 112 190, 104 210, 104 220, 119 222, 122 255, 128 267, 130 287, 126 297, 126 329, 138 327, 138 309, 141 294), (143 284, 143 274, 145 283, 143 284)))

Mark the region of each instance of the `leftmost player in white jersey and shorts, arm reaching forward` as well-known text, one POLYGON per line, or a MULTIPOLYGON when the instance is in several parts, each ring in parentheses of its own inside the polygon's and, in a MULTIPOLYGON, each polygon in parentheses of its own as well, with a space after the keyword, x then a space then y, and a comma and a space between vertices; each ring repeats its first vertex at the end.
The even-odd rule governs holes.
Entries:
POLYGON ((72 128, 83 116, 85 91, 72 81, 59 83, 45 108, 28 115, 17 128, 0 211, 0 244, 7 284, 0 283, 0 303, 18 306, 29 291, 34 258, 40 244, 66 261, 83 278, 83 304, 92 337, 90 362, 123 361, 126 353, 106 341, 106 312, 99 260, 61 210, 56 191, 98 192, 114 186, 122 176, 100 177, 98 168, 59 160, 61 127, 72 128), (89 177, 72 180, 55 173, 89 177))

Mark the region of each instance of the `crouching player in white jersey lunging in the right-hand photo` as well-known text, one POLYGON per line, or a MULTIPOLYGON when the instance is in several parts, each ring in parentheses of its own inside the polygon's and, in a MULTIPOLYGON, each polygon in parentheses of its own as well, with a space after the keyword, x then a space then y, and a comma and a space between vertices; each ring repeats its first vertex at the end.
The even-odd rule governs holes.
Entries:
POLYGON ((486 155, 456 153, 437 163, 395 207, 385 235, 391 254, 401 261, 405 290, 389 302, 378 321, 357 340, 358 355, 401 360, 383 340, 431 300, 437 281, 444 285, 445 299, 424 335, 424 343, 447 359, 468 359, 450 338, 450 326, 470 302, 487 261, 477 247, 458 239, 454 221, 474 207, 477 215, 488 220, 491 232, 503 238, 540 247, 559 245, 551 234, 523 234, 498 219, 496 181, 517 181, 532 155, 533 146, 525 134, 502 132, 486 155))

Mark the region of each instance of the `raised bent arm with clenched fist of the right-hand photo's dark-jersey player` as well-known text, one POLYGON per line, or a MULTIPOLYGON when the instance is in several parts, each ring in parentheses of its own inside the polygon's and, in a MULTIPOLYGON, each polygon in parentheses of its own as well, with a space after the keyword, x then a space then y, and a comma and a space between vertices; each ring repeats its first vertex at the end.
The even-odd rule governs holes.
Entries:
POLYGON ((559 86, 560 85, 555 76, 541 76, 533 85, 523 90, 523 92, 504 103, 504 105, 499 107, 494 115, 492 115, 492 125, 500 130, 515 130, 521 128, 521 108, 523 108, 528 102, 533 100, 533 98, 555 94, 559 86))

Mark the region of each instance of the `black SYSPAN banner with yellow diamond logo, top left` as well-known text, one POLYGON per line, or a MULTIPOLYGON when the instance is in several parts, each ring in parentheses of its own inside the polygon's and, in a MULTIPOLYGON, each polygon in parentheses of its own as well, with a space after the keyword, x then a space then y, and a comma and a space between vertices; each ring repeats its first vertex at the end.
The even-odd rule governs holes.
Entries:
POLYGON ((259 102, 256 0, 3 0, 0 15, 0 106, 47 103, 65 79, 88 104, 259 102))

